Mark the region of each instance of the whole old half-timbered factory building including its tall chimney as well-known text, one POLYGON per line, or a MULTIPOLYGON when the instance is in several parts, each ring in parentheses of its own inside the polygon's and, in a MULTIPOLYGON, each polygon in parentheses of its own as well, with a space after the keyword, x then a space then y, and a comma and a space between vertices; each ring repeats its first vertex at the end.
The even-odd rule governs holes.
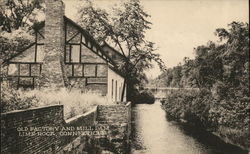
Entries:
POLYGON ((126 85, 116 57, 122 55, 110 51, 107 44, 100 46, 86 30, 64 16, 61 0, 46 0, 45 12, 45 23, 34 28, 34 42, 4 61, 3 82, 17 89, 95 91, 111 101, 121 101, 126 85))

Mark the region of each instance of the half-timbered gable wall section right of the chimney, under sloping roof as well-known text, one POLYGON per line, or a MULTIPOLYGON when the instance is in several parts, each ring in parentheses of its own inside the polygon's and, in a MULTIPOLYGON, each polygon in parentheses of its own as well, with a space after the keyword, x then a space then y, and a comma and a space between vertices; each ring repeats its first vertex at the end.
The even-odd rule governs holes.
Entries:
POLYGON ((67 21, 65 42, 65 70, 71 87, 106 95, 108 63, 100 47, 67 21))

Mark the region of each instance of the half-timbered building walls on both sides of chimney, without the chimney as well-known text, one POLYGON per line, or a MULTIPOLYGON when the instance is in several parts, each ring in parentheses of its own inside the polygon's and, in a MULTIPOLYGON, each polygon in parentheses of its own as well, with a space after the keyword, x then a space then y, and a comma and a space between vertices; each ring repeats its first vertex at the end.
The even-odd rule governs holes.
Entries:
MULTIPOLYGON (((34 35, 34 43, 7 62, 5 70, 12 87, 39 86, 38 80, 44 63, 44 27, 36 30, 34 35)), ((110 70, 112 57, 108 57, 86 31, 67 18, 64 47, 63 71, 68 78, 67 86, 82 91, 97 91, 107 95, 112 101, 121 100, 124 79, 114 70, 110 70)))

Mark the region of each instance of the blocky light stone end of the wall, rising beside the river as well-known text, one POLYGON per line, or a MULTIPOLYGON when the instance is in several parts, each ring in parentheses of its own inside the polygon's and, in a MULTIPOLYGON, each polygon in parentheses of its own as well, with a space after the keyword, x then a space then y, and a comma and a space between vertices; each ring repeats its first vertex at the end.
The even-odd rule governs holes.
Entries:
POLYGON ((117 105, 99 105, 97 122, 108 124, 109 132, 104 140, 104 148, 113 153, 130 152, 131 103, 117 105), (105 144, 107 147, 105 147, 105 144))

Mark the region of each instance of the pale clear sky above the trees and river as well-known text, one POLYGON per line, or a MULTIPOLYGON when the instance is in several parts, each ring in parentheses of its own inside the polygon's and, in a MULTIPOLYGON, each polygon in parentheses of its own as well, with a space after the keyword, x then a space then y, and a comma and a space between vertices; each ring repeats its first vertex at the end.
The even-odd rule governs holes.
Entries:
MULTIPOLYGON (((118 0, 93 0, 101 8, 110 9, 118 0)), ((66 16, 76 19, 79 1, 64 0, 66 16)), ((227 28, 232 21, 249 23, 248 0, 141 0, 151 15, 151 29, 146 39, 156 43, 167 68, 178 65, 184 57, 194 58, 194 48, 209 40, 217 41, 216 28, 227 28)), ((155 67, 146 72, 149 78, 160 74, 155 67)))

